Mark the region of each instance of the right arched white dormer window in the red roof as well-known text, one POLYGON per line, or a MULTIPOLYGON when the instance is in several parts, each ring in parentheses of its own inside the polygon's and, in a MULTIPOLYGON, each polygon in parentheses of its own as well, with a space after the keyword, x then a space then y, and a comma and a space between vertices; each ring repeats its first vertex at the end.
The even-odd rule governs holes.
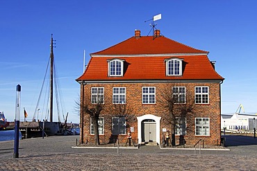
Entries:
POLYGON ((179 58, 165 60, 166 75, 182 75, 182 61, 183 59, 179 58))

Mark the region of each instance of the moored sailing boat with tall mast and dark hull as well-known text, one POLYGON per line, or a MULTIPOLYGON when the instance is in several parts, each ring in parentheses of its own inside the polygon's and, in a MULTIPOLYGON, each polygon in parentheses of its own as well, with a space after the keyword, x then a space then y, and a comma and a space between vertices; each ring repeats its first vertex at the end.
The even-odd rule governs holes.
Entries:
MULTIPOLYGON (((53 78, 54 74, 54 64, 53 64, 53 35, 51 35, 51 53, 50 53, 50 79, 49 79, 49 107, 47 107, 47 112, 49 113, 50 120, 48 121, 48 117, 46 117, 43 120, 36 120, 35 115, 36 112, 39 111, 39 104, 40 104, 40 98, 38 99, 37 106, 35 107, 35 113, 33 116, 32 122, 25 121, 26 115, 24 115, 24 122, 21 122, 19 125, 19 130, 22 132, 22 138, 32 138, 32 137, 39 137, 39 136, 51 136, 51 135, 58 135, 58 134, 63 134, 63 125, 60 123, 60 115, 58 113, 58 122, 53 122, 53 81, 56 84, 56 80, 53 78)), ((48 70, 48 66, 47 66, 48 70)), ((47 72, 46 72, 47 75, 47 72)), ((44 82, 46 75, 44 76, 44 82)), ((44 82, 42 84, 42 89, 44 87, 44 82)), ((55 87, 57 87, 55 85, 55 87)), ((40 97, 42 94, 42 89, 40 91, 40 97)), ((58 93, 56 93, 56 96, 58 93)), ((56 102, 58 97, 56 97, 56 102)), ((57 107, 59 105, 56 105, 57 107)), ((59 110, 58 110, 59 111, 59 110)), ((25 114, 25 109, 24 109, 24 114, 25 114)))

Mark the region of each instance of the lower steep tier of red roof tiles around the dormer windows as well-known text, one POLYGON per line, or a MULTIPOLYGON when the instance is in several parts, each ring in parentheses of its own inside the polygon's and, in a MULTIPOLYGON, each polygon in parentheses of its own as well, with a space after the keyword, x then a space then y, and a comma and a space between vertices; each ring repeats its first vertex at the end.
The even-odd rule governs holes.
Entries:
POLYGON ((123 77, 108 77, 107 60, 113 57, 92 57, 85 73, 78 80, 223 80, 215 72, 207 55, 180 56, 185 62, 182 76, 166 76, 165 59, 169 57, 119 57, 128 68, 123 77))

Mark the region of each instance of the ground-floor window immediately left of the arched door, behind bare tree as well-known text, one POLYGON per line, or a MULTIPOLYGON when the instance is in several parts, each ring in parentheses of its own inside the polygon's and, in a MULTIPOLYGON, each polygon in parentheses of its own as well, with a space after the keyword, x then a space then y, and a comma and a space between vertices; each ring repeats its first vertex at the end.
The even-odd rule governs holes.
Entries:
POLYGON ((125 135, 125 134, 126 134, 126 118, 113 117, 113 135, 125 135))

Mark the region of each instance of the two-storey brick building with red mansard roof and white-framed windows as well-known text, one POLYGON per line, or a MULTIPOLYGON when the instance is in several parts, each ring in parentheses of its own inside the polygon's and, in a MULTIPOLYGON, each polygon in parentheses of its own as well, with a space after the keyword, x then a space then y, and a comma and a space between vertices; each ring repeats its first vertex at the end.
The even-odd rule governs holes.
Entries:
POLYGON ((220 142, 221 84, 208 52, 160 35, 141 36, 97 53, 81 84, 81 142, 94 143, 94 127, 83 111, 86 102, 103 107, 99 123, 101 143, 131 132, 135 143, 160 144, 166 132, 183 135, 187 144, 200 138, 220 142))

